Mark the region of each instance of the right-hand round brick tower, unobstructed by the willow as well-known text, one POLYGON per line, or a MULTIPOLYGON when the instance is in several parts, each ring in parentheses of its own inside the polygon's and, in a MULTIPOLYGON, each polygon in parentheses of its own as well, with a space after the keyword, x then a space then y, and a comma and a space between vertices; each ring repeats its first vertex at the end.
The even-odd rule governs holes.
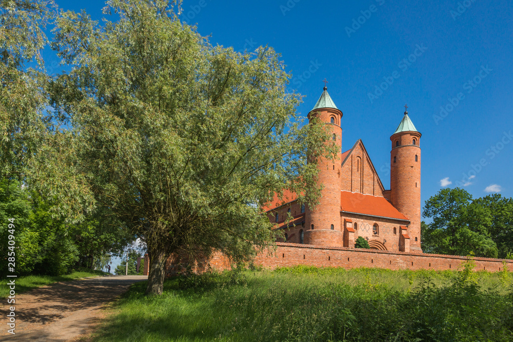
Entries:
MULTIPOLYGON (((407 106, 405 107, 407 109, 407 106)), ((390 199, 392 205, 410 220, 407 235, 411 253, 422 253, 420 245, 421 136, 422 134, 413 126, 406 111, 396 132, 390 137, 392 142, 390 199)))

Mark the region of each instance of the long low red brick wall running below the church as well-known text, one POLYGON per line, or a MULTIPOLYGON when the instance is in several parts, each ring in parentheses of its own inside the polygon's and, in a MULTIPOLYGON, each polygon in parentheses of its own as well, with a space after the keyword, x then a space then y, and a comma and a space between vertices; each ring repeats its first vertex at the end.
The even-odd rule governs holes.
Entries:
MULTIPOLYGON (((254 265, 265 269, 307 265, 346 269, 377 267, 391 270, 457 270, 467 259, 465 256, 277 243, 275 251, 266 250, 259 254, 254 260, 254 265)), ((508 269, 513 271, 513 260, 475 257, 474 261, 476 271, 501 271, 504 261, 508 269)), ((166 276, 174 276, 186 271, 202 273, 208 270, 223 271, 230 268, 230 260, 220 252, 214 252, 208 260, 201 255, 196 260, 192 260, 188 255, 179 253, 168 258, 166 276)), ((145 262, 145 274, 147 274, 147 262, 145 262)))

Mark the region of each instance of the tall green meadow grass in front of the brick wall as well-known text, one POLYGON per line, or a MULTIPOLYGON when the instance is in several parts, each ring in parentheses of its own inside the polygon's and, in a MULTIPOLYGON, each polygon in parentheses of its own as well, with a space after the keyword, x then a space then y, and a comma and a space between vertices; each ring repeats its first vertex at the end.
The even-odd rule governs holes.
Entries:
POLYGON ((100 341, 511 341, 506 272, 294 267, 137 283, 100 341))

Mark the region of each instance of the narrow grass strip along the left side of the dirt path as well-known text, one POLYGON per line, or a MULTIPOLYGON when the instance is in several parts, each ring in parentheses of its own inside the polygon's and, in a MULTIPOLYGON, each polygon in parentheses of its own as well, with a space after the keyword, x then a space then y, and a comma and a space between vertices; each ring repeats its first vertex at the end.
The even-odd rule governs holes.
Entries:
POLYGON ((7 282, 16 279, 16 294, 27 292, 29 290, 57 283, 58 281, 70 281, 78 278, 107 275, 102 271, 95 271, 88 268, 74 270, 65 275, 24 275, 17 278, 4 278, 0 280, 0 298, 6 298, 9 295, 7 282))

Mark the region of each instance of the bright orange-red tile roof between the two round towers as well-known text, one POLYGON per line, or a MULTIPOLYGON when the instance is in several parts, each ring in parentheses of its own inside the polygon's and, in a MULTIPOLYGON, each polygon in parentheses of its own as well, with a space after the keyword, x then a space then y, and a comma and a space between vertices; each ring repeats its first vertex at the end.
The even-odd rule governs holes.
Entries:
POLYGON ((394 208, 385 197, 364 195, 358 192, 341 191, 340 206, 342 211, 373 215, 380 217, 408 218, 394 208))

